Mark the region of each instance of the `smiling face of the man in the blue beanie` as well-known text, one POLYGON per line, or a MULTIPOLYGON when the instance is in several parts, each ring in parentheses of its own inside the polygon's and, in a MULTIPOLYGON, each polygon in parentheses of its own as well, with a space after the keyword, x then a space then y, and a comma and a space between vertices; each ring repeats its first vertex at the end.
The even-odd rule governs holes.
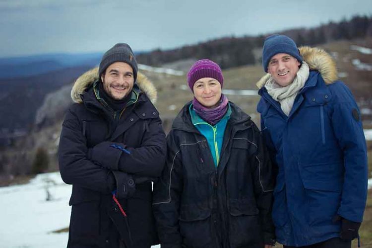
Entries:
POLYGON ((278 53, 271 57, 267 72, 280 86, 284 87, 293 82, 301 63, 286 53, 278 53))

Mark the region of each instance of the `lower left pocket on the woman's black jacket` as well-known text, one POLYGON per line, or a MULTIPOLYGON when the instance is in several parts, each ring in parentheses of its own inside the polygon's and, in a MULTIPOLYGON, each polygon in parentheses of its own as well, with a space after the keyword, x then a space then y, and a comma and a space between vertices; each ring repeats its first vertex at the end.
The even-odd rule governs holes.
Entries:
POLYGON ((214 247, 215 238, 210 209, 201 209, 195 204, 182 205, 179 219, 184 246, 192 248, 214 247))

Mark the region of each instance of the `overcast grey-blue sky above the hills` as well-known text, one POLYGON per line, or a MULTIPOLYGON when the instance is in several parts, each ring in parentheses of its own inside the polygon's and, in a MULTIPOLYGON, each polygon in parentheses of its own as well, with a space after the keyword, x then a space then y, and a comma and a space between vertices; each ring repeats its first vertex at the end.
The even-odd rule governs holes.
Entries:
POLYGON ((372 0, 0 0, 0 57, 175 48, 355 14, 371 16, 372 0))

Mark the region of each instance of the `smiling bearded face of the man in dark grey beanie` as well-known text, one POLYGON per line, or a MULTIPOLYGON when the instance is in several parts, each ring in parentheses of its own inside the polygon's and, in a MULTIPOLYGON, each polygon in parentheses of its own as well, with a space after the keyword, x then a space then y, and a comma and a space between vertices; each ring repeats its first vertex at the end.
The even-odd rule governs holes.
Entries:
POLYGON ((133 69, 124 62, 115 62, 102 74, 101 81, 104 90, 110 97, 115 100, 121 100, 133 88, 133 69))

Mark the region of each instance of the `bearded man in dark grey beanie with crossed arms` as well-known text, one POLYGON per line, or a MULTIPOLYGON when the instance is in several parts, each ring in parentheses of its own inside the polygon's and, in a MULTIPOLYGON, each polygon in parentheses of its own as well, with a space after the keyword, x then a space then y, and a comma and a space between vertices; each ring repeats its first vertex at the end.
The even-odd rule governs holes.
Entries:
POLYGON ((80 76, 62 125, 59 165, 72 184, 68 248, 158 244, 152 181, 163 169, 165 134, 154 85, 118 43, 80 76))

